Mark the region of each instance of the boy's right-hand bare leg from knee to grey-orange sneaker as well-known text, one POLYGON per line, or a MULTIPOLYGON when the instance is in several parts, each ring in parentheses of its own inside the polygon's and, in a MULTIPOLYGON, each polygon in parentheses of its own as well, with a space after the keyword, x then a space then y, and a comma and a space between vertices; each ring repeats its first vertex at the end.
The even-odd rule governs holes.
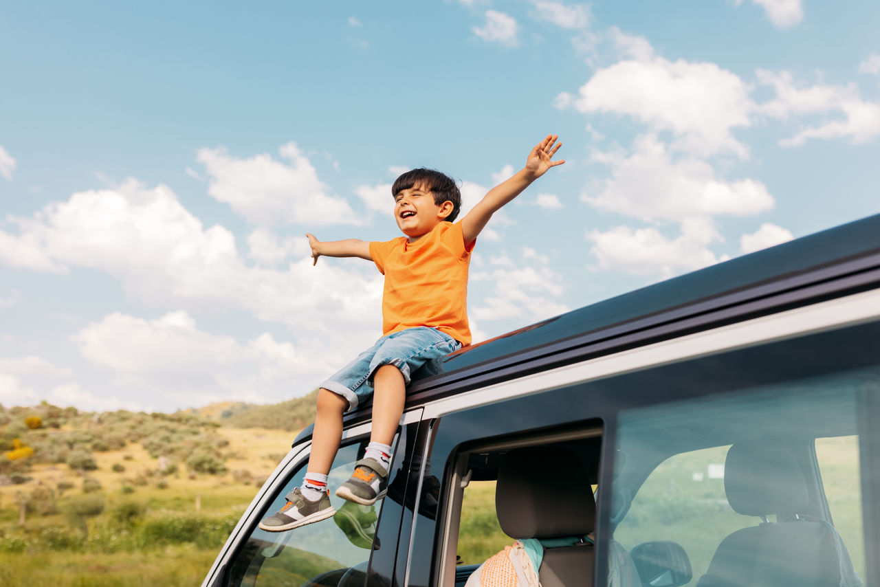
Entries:
POLYGON ((385 495, 388 487, 388 457, 391 443, 403 415, 407 384, 400 369, 386 364, 373 374, 373 427, 364 458, 355 474, 336 490, 349 502, 370 505, 385 495))

